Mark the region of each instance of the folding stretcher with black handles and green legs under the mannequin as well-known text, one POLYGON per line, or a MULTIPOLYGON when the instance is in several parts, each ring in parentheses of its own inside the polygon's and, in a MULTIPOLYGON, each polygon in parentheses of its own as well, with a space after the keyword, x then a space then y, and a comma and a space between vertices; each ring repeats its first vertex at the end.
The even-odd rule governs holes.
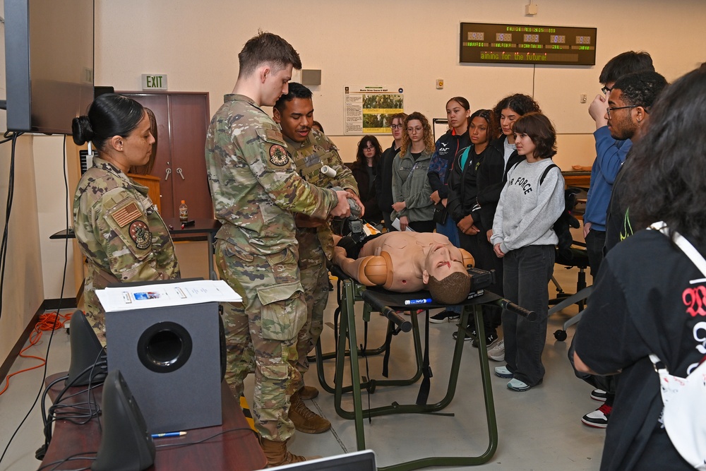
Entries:
MULTIPOLYGON (((331 269, 333 275, 338 277, 338 304, 339 307, 336 311, 337 322, 335 322, 335 338, 336 338, 336 349, 335 352, 330 352, 324 354, 321 349, 321 342, 316 345, 316 369, 318 373, 318 379, 321 386, 329 393, 334 394, 335 408, 338 415, 345 419, 355 420, 355 430, 356 430, 356 442, 358 450, 364 450, 365 446, 365 436, 363 429, 363 417, 376 417, 381 415, 390 414, 404 414, 404 413, 429 413, 437 412, 442 410, 444 407, 450 404, 453 400, 453 396, 456 389, 456 383, 458 378, 459 366, 461 363, 461 354, 463 352, 464 345, 464 333, 465 326, 467 326, 467 321, 470 315, 475 317, 476 332, 478 335, 478 357, 481 371, 481 383, 483 386, 483 395, 485 402, 486 417, 488 422, 488 434, 489 434, 489 444, 486 451, 479 456, 449 456, 449 457, 428 457, 419 458, 417 460, 407 461, 405 463, 398 463, 397 465, 392 465, 388 467, 381 467, 380 470, 394 470, 394 471, 409 471, 417 470, 421 467, 428 466, 472 466, 481 465, 489 461, 493 454, 498 448, 498 427, 496 423, 495 415, 495 405, 493 403, 493 391, 491 389, 491 374, 490 367, 488 364, 488 352, 486 350, 486 340, 483 325, 483 316, 481 313, 481 306, 483 304, 493 304, 496 306, 501 306, 505 309, 514 311, 518 315, 525 316, 527 318, 532 318, 536 316, 533 312, 522 309, 516 304, 508 302, 507 299, 502 299, 496 294, 485 291, 473 292, 472 296, 469 297, 462 305, 464 309, 460 316, 458 335, 455 342, 455 347, 453 351, 452 366, 448 380, 448 388, 444 398, 436 404, 427 404, 427 397, 429 395, 429 378, 431 377, 431 369, 429 369, 429 309, 434 308, 444 308, 443 304, 415 304, 414 306, 405 305, 405 301, 408 299, 427 299, 431 298, 428 291, 420 291, 416 293, 397 293, 384 290, 380 287, 365 287, 359 282, 352 280, 348 275, 343 273, 340 268, 333 266, 331 269), (385 343, 381 347, 374 350, 359 350, 356 346, 356 319, 354 314, 354 303, 357 301, 364 302, 363 308, 363 321, 366 323, 370 321, 371 312, 381 312, 386 318, 388 318, 388 330, 385 336, 385 343), (425 329, 425 345, 424 350, 422 350, 421 339, 420 339, 420 329, 419 320, 416 314, 412 314, 409 320, 400 316, 397 311, 408 311, 412 310, 412 313, 416 313, 417 309, 424 309, 426 311, 426 329, 425 329), (340 329, 340 331, 339 331, 340 329), (369 378, 361 378, 359 376, 359 364, 358 359, 360 357, 367 357, 374 354, 381 354, 384 352, 385 359, 383 361, 383 376, 387 375, 387 359, 389 355, 389 346, 392 335, 398 333, 400 330, 404 332, 412 331, 414 335, 414 355, 417 361, 417 371, 416 373, 408 379, 384 379, 384 380, 372 380, 369 378), (350 358, 350 376, 352 386, 343 386, 343 376, 345 371, 345 361, 346 357, 350 358), (333 386, 330 385, 325 378, 323 370, 323 360, 325 359, 335 359, 335 377, 333 386), (419 395, 417 397, 416 404, 400 405, 393 403, 392 405, 384 407, 373 407, 364 409, 361 403, 361 389, 367 390, 369 393, 373 393, 377 386, 407 386, 419 381, 419 378, 424 376, 421 387, 419 390, 419 395), (341 400, 343 393, 353 394, 353 410, 344 410, 341 406, 341 400)), ((469 295, 471 296, 471 295, 469 295)), ((367 328, 367 326, 366 326, 367 328)))

